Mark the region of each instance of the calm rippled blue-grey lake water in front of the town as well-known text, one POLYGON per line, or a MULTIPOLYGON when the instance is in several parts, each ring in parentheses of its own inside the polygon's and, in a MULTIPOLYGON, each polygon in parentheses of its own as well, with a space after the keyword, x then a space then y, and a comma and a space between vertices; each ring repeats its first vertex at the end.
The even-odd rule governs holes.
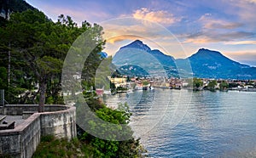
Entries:
POLYGON ((149 157, 256 157, 256 93, 154 89, 119 93, 149 157))

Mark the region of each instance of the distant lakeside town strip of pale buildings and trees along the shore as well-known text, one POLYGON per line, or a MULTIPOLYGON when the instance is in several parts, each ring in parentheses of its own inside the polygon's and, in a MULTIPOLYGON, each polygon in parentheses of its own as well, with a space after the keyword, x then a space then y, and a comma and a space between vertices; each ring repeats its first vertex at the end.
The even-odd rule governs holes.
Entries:
POLYGON ((256 80, 224 80, 206 78, 166 78, 166 77, 108 77, 113 87, 111 89, 96 89, 99 96, 114 93, 127 93, 133 90, 153 90, 154 88, 188 89, 193 91, 246 91, 256 92, 256 80))

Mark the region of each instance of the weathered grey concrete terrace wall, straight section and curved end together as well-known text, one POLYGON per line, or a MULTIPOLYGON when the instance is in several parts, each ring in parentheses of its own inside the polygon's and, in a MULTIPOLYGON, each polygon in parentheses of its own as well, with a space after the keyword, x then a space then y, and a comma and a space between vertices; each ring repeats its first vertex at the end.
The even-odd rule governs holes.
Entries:
MULTIPOLYGON (((46 108, 47 107, 47 108, 46 108)), ((4 109, 3 109, 4 108, 4 109)), ((34 111, 37 105, 6 105, 3 115, 22 114, 22 110, 34 111)), ((47 105, 51 112, 34 113, 15 129, 0 131, 0 157, 32 157, 41 136, 55 135, 57 138, 76 137, 76 111, 74 106, 47 105), (55 111, 53 110, 60 110, 55 111)))

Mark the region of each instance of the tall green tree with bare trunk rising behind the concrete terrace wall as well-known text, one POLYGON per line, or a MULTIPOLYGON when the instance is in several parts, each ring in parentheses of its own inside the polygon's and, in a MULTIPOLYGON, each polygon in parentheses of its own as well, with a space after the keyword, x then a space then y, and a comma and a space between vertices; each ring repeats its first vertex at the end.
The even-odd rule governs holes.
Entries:
POLYGON ((44 111, 47 82, 55 74, 61 73, 61 56, 55 39, 55 24, 42 12, 27 10, 12 14, 7 25, 7 35, 13 52, 32 71, 32 77, 38 82, 39 112, 44 111), (54 53, 54 54, 52 54, 54 53))

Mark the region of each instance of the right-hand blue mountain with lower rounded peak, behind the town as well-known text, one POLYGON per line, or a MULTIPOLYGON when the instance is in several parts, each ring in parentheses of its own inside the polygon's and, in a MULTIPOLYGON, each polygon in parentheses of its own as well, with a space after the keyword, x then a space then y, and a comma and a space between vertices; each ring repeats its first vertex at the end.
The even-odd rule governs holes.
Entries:
POLYGON ((201 48, 188 59, 177 59, 179 68, 183 68, 184 60, 189 60, 194 76, 201 78, 230 78, 252 79, 256 78, 256 68, 243 65, 223 54, 201 48))

